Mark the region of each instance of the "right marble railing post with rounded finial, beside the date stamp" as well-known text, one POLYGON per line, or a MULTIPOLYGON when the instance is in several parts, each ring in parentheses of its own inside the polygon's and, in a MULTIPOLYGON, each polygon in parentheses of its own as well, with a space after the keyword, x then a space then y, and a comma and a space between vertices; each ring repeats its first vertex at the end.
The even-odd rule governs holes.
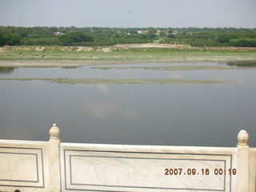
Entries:
POLYGON ((250 147, 246 130, 238 133, 237 192, 249 192, 250 147))

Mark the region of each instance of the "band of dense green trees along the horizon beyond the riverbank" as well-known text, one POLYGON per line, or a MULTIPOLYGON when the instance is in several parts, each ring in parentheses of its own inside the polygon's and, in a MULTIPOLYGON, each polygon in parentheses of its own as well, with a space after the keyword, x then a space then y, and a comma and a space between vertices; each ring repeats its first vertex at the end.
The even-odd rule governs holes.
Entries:
POLYGON ((256 29, 0 26, 0 46, 113 46, 146 42, 255 47, 256 29))

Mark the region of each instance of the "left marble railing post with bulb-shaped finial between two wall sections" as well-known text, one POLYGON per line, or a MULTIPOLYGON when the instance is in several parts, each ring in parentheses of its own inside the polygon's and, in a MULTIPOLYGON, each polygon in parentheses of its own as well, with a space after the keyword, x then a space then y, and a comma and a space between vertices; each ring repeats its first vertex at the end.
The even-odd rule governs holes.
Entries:
POLYGON ((49 192, 61 191, 60 130, 54 123, 49 130, 49 192))

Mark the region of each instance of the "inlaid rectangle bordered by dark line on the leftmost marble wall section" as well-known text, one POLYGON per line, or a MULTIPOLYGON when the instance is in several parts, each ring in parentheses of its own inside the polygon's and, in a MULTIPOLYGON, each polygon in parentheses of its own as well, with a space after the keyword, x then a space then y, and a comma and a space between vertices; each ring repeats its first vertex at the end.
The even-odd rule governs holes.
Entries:
POLYGON ((0 186, 44 188, 42 149, 0 146, 0 186))

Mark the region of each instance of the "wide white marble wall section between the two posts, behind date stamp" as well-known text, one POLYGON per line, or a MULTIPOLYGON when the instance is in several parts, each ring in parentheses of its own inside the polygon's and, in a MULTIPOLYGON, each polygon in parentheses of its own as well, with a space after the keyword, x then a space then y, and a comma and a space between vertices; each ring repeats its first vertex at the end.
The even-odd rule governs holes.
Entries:
POLYGON ((62 143, 61 160, 62 191, 236 191, 236 148, 62 143))

